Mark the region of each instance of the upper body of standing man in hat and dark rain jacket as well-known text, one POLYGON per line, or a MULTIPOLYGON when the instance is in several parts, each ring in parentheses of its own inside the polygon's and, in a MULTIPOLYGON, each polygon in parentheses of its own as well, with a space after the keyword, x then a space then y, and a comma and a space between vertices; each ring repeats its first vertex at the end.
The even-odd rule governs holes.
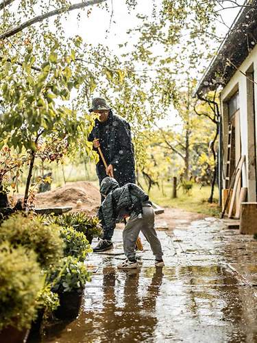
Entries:
POLYGON ((90 112, 99 114, 99 119, 95 120, 95 127, 88 141, 93 141, 95 149, 101 147, 108 165, 106 168, 99 156, 97 163, 99 184, 106 176, 115 178, 119 186, 128 182, 135 183, 134 147, 130 124, 118 115, 114 115, 110 106, 106 104, 106 99, 102 97, 93 99, 90 112))

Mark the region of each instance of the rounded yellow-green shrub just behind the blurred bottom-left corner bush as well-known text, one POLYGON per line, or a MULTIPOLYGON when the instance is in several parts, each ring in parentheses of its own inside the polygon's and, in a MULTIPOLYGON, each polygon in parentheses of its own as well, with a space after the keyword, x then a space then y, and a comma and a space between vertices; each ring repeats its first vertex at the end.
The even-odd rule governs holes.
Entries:
POLYGON ((0 242, 9 241, 13 246, 34 250, 42 268, 58 263, 63 256, 64 242, 57 225, 43 225, 35 218, 15 214, 0 227, 0 242))

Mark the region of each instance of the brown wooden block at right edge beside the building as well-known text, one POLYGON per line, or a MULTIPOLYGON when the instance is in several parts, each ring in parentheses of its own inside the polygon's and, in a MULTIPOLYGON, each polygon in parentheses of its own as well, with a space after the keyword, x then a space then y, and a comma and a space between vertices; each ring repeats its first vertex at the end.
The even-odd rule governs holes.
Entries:
POLYGON ((243 235, 257 233, 257 202, 242 202, 240 213, 240 229, 243 235))

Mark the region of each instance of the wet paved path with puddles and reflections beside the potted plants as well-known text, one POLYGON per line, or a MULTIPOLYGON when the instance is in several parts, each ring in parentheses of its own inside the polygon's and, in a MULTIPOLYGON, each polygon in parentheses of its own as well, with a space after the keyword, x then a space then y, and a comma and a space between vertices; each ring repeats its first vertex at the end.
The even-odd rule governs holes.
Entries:
POLYGON ((112 255, 90 255, 99 265, 85 289, 82 311, 56 325, 42 342, 257 342, 257 241, 208 218, 159 231, 164 268, 147 251, 140 270, 115 266, 124 258, 121 230, 112 255), (66 325, 66 326, 65 326, 66 325))

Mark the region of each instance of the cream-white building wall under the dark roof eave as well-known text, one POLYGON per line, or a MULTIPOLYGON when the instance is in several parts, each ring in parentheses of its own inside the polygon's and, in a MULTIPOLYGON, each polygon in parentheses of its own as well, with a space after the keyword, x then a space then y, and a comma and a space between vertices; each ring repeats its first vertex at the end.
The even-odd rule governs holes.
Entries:
MULTIPOLYGON (((242 171, 242 184, 243 187, 251 187, 248 182, 248 130, 247 130, 247 78, 244 73, 254 64, 255 81, 257 81, 257 46, 254 47, 252 52, 247 56, 244 62, 238 67, 238 70, 231 78, 230 82, 223 88, 221 92, 221 104, 230 99, 235 91, 239 91, 239 107, 240 107, 240 126, 241 126, 241 154, 245 155, 246 163, 242 171)), ((255 116, 257 123, 257 86, 254 87, 255 93, 255 116)), ((254 125, 254 123, 252 123, 254 125)), ((257 126, 257 125, 256 125, 257 126)), ((257 131, 257 128, 256 128, 257 131)), ((257 134, 257 132, 256 132, 257 134)), ((257 156, 257 154, 256 154, 257 156)))

